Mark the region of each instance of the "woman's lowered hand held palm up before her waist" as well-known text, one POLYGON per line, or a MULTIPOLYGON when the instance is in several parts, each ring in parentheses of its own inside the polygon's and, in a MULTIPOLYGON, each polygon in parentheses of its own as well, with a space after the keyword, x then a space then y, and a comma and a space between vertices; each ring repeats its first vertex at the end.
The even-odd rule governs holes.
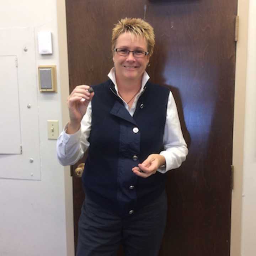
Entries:
POLYGON ((159 154, 151 154, 141 164, 132 168, 134 174, 147 178, 155 174, 157 169, 165 164, 165 157, 159 154))

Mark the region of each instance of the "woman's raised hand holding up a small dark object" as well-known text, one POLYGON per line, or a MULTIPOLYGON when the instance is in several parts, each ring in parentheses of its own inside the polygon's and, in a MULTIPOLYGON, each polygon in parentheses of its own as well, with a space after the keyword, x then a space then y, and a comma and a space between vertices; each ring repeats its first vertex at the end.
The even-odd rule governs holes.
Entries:
POLYGON ((68 96, 67 105, 70 121, 66 133, 73 134, 80 129, 82 118, 86 113, 89 102, 94 96, 94 92, 90 93, 88 91, 89 88, 89 85, 78 85, 68 96))

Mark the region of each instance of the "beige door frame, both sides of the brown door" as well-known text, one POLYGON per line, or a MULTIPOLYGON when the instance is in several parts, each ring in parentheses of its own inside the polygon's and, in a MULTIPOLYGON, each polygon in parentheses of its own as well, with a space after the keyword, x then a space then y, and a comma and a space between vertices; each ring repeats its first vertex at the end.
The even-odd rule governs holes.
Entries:
MULTIPOLYGON (((66 98, 69 95, 68 76, 68 47, 66 36, 66 7, 65 0, 56 0, 58 26, 58 54, 57 66, 62 123, 69 120, 66 98)), ((247 72, 247 42, 248 42, 248 12, 249 0, 238 0, 238 15, 243 22, 239 25, 239 41, 236 45, 235 99, 234 99, 234 128, 233 128, 233 165, 234 190, 231 198, 231 241, 230 255, 241 255, 241 212, 242 212, 242 178, 244 161, 244 117, 245 91, 247 72)), ((66 255, 74 255, 74 223, 73 223, 73 188, 69 166, 65 167, 65 213, 66 213, 66 255)))

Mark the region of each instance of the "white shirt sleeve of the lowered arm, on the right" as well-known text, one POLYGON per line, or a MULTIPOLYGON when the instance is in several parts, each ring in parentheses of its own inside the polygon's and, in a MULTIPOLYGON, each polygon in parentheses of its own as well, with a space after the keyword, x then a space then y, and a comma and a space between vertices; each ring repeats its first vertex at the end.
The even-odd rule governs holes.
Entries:
POLYGON ((164 129, 164 149, 160 155, 165 157, 165 167, 158 169, 159 172, 165 173, 168 170, 176 169, 181 166, 181 163, 186 160, 188 154, 187 144, 183 138, 180 119, 174 97, 170 91, 166 122, 164 129))

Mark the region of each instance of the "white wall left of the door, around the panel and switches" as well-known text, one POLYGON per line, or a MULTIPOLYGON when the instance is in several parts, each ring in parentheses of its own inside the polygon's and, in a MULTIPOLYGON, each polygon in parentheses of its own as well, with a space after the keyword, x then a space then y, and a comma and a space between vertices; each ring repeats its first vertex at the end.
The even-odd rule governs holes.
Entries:
MULTIPOLYGON (((48 119, 59 120, 59 129, 63 126, 58 72, 56 0, 0 0, 0 28, 24 26, 34 27, 35 34, 40 30, 52 32, 54 53, 41 56, 36 48, 34 68, 37 69, 38 65, 57 65, 58 93, 40 94, 37 89, 37 95, 34 95, 38 97, 41 180, 0 179, 0 255, 65 256, 68 255, 65 213, 66 179, 64 167, 57 161, 56 140, 47 139, 48 119)), ((37 38, 35 42, 37 47, 37 38)), ((38 87, 38 84, 34 86, 38 87)), ((13 164, 13 167, 18 168, 15 163, 13 164)), ((2 165, 1 168, 3 168, 2 165)), ((10 167, 4 166, 4 168, 10 167)), ((70 181, 71 178, 68 180, 69 185, 70 181)), ((72 204, 68 207, 72 212, 72 204)), ((72 250, 69 255, 72 255, 72 250)))

